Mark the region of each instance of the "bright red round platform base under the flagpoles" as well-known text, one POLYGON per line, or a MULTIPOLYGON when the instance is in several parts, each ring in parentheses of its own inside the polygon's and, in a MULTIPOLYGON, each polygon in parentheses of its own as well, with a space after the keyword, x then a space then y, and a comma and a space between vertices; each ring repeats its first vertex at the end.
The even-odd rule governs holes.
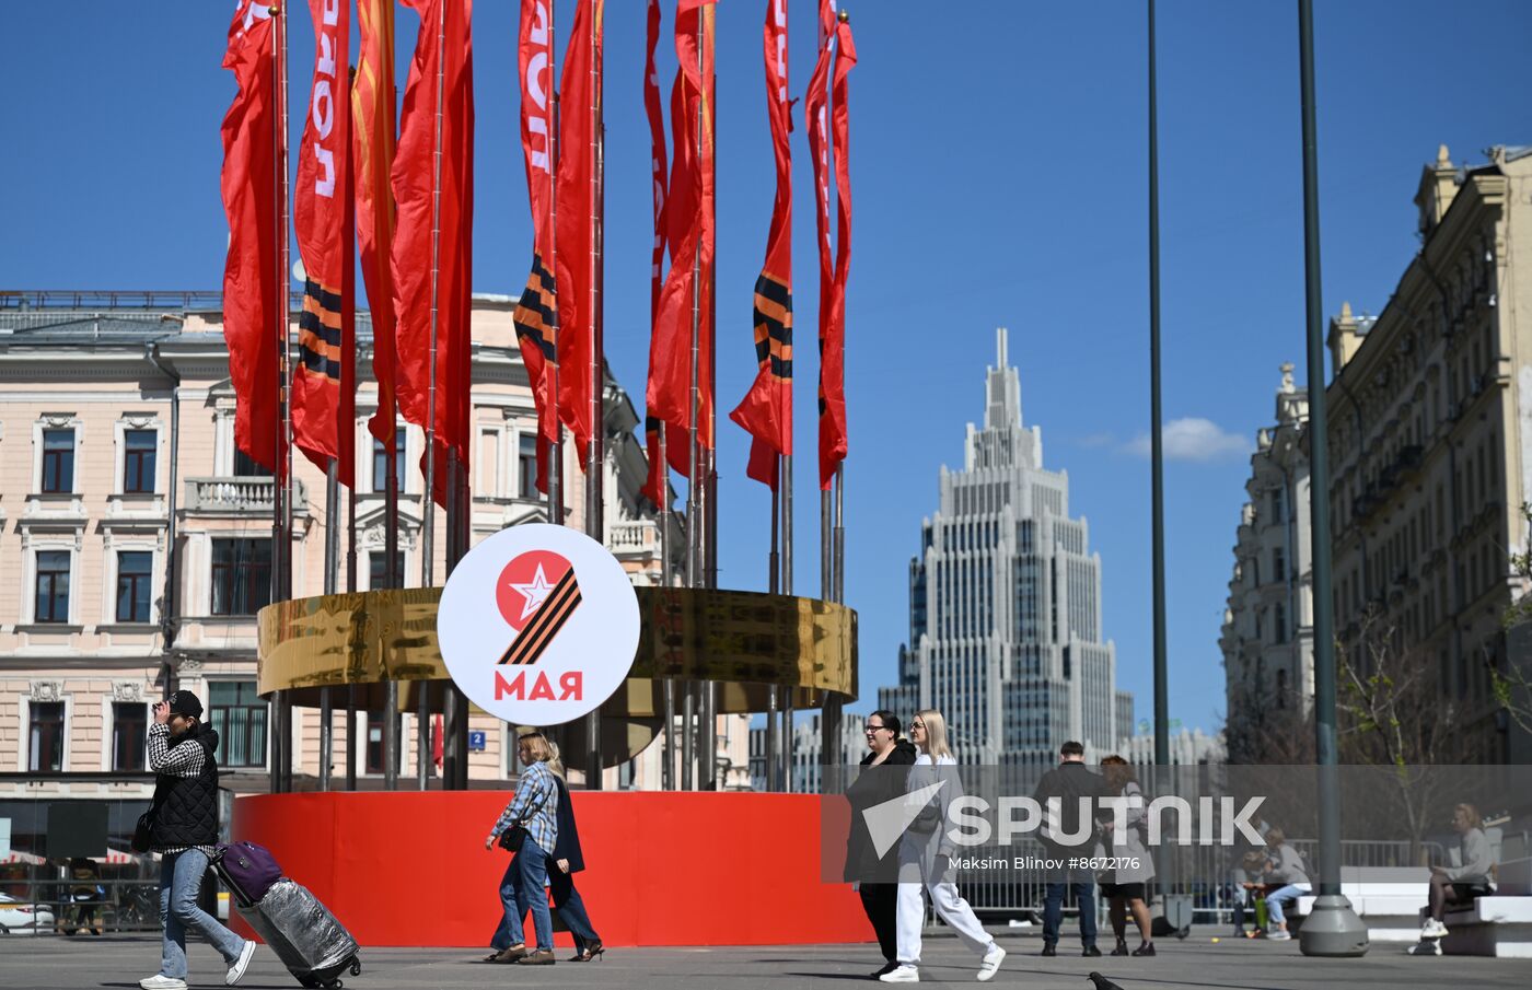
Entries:
MULTIPOLYGON (((817 795, 571 797, 587 864, 576 886, 608 946, 872 939, 850 884, 821 880, 817 795)), ((509 800, 506 791, 259 794, 234 802, 233 835, 271 849, 363 946, 486 947, 509 855, 484 849, 484 837, 509 800)), ((824 866, 838 875, 838 863, 824 866)), ((236 926, 250 935, 237 916, 236 926)))

